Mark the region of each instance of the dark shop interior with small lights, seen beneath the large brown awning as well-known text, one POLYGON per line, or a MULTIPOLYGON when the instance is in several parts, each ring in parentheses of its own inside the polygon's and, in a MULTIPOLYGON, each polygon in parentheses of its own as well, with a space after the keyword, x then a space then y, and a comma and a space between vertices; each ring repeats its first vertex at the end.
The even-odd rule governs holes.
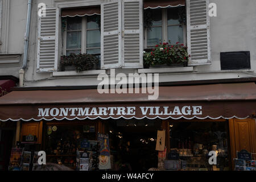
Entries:
MULTIPOLYGON (((179 161, 179 168, 167 170, 212 171, 229 170, 229 129, 228 122, 172 121, 168 123, 170 143, 166 146, 166 160, 179 161), (216 151, 217 165, 208 163, 208 152, 216 151), (178 158, 173 157, 176 152, 178 158)), ((103 121, 104 133, 109 137, 111 169, 115 171, 144 170, 159 168, 159 151, 156 151, 158 130, 163 130, 160 119, 118 119, 103 121)), ((44 148, 49 163, 64 164, 77 169, 77 151, 86 148, 93 155, 90 170, 97 170, 98 151, 97 122, 76 125, 47 125, 44 132, 44 148), (93 144, 94 142, 94 144, 93 144), (88 144, 89 143, 89 144, 88 144)), ((168 131, 167 131, 168 133, 168 131)), ((167 140, 168 141, 168 138, 167 140)), ((89 154, 89 153, 88 153, 89 154)), ((177 155, 176 155, 177 157, 177 155)))

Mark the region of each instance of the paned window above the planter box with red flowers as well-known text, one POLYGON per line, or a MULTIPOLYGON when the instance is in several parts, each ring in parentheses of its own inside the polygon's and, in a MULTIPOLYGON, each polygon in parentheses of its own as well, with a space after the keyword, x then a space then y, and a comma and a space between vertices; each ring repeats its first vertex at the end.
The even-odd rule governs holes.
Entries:
POLYGON ((144 48, 152 48, 163 42, 185 44, 186 27, 183 20, 180 20, 180 12, 183 10, 184 7, 144 10, 152 20, 151 26, 145 30, 144 48))

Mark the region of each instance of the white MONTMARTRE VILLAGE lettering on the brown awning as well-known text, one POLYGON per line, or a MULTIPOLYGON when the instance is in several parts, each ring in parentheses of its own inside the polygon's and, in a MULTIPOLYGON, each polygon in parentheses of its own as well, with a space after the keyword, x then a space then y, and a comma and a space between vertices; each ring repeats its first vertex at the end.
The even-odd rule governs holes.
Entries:
POLYGON ((38 108, 38 117, 105 117, 134 115, 202 115, 202 106, 125 106, 125 107, 53 107, 38 108))

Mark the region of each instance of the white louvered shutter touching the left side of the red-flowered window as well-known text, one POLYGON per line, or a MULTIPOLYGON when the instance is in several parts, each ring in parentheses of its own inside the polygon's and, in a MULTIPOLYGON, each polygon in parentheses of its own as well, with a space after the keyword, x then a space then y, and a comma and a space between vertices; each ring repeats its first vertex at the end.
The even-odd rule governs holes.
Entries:
POLYGON ((123 0, 123 68, 143 68, 143 2, 123 0))

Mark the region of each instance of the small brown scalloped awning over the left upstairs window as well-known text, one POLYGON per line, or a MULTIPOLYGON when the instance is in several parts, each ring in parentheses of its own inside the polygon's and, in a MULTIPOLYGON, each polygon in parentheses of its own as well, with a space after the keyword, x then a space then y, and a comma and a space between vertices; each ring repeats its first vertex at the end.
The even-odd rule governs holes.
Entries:
POLYGON ((61 17, 74 17, 74 16, 85 16, 85 15, 100 15, 101 7, 100 6, 87 6, 79 8, 68 8, 61 9, 61 17))

